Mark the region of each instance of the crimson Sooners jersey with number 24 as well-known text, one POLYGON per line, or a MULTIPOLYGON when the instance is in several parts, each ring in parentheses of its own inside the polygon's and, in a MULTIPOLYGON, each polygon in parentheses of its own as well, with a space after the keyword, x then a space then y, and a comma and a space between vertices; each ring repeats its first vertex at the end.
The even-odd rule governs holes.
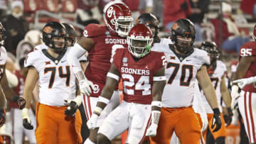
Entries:
POLYGON ((164 53, 151 51, 136 62, 127 48, 117 49, 113 64, 123 80, 124 101, 151 104, 154 74, 166 64, 164 53))

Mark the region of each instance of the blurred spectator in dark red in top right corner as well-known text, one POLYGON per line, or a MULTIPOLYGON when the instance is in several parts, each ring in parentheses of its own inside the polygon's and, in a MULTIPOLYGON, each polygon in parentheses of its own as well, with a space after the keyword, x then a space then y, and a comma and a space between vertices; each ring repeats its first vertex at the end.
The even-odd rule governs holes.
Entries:
POLYGON ((256 1, 255 0, 242 0, 240 8, 244 13, 250 14, 256 17, 256 1))

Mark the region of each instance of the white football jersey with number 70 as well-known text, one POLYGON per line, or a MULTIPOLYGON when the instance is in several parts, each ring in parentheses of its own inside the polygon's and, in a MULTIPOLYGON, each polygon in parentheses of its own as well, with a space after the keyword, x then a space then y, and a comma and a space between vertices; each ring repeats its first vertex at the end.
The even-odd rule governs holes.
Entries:
POLYGON ((192 106, 196 74, 202 65, 210 64, 204 50, 194 48, 191 55, 178 57, 171 45, 155 43, 151 50, 164 52, 167 57, 166 79, 162 106, 169 108, 192 106))

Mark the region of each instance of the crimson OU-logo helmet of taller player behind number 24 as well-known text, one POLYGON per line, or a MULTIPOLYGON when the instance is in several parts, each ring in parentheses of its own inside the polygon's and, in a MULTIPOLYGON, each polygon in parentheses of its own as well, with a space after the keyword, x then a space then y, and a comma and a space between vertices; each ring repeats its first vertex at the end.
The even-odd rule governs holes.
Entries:
POLYGON ((115 31, 121 37, 126 37, 133 22, 132 13, 128 6, 123 3, 106 5, 104 13, 103 18, 107 28, 115 31))

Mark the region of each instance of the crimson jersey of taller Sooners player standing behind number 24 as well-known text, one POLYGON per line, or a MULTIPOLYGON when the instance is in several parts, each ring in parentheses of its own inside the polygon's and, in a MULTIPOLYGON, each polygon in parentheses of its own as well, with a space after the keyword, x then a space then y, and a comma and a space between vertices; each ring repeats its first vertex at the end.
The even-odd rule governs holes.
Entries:
POLYGON ((114 31, 109 31, 107 26, 97 24, 86 26, 83 35, 94 40, 94 47, 89 51, 89 65, 85 70, 85 76, 95 84, 90 96, 99 96, 110 70, 111 57, 117 48, 127 47, 127 40, 119 37, 114 31))

